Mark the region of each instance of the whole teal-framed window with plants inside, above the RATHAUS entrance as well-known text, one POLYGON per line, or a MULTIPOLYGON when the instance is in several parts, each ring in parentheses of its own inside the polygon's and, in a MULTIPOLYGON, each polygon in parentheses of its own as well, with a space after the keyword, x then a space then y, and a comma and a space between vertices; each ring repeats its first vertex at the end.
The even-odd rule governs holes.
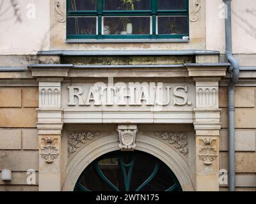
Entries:
POLYGON ((67 39, 189 36, 188 0, 67 0, 67 39))

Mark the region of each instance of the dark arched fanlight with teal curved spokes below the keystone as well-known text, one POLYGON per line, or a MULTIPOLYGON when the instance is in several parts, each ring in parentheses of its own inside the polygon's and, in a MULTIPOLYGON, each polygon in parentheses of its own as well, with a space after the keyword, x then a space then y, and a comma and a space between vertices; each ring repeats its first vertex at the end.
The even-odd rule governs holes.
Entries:
POLYGON ((118 150, 88 165, 74 191, 182 191, 182 188, 172 170, 157 157, 138 150, 118 150))

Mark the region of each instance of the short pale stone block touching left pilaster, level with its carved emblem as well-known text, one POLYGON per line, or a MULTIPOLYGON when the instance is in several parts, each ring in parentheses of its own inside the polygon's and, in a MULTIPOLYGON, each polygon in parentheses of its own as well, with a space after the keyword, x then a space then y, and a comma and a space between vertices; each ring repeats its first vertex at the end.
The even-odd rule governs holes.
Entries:
POLYGON ((37 129, 35 128, 22 129, 22 149, 24 150, 38 149, 37 129))

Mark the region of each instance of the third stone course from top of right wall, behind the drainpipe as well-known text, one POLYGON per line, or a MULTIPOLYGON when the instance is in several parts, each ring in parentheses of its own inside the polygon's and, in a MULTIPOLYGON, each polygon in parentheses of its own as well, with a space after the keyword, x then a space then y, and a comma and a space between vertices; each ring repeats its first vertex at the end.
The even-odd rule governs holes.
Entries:
MULTIPOLYGON (((236 129, 236 151, 256 151, 256 131, 236 129)), ((221 129, 220 150, 228 151, 228 129, 221 129)))

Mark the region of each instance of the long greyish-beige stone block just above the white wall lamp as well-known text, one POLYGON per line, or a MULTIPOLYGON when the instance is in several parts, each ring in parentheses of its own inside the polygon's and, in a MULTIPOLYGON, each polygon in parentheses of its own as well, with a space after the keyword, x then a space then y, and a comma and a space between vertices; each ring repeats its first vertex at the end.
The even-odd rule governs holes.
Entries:
POLYGON ((13 171, 38 170, 38 151, 1 150, 0 170, 11 168, 13 171))

